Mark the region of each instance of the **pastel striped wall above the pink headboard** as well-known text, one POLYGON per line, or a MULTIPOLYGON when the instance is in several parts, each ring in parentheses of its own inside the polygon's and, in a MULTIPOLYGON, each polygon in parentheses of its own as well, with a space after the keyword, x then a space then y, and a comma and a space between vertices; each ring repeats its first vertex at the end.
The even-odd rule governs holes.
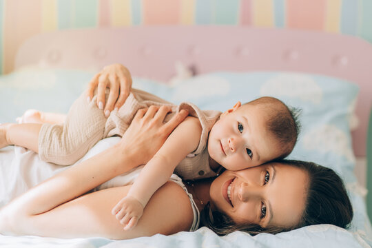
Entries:
POLYGON ((372 42, 372 0, 0 0, 0 74, 34 34, 164 24, 323 30, 372 42))

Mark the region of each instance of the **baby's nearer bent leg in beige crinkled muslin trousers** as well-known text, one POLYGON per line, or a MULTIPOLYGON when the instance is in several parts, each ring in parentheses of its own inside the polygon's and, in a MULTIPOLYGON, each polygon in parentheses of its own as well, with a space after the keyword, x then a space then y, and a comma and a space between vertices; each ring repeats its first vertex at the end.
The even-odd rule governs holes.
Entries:
POLYGON ((85 93, 72 104, 63 123, 44 123, 39 134, 39 158, 58 165, 72 165, 104 138, 106 118, 94 99, 85 93))

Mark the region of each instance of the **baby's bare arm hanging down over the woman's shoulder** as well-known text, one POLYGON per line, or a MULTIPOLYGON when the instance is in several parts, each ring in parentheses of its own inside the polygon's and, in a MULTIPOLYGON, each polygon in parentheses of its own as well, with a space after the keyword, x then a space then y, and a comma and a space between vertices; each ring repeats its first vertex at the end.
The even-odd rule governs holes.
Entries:
POLYGON ((169 180, 178 163, 198 147, 201 132, 198 119, 187 117, 145 165, 130 192, 112 209, 125 230, 136 225, 154 192, 169 180))

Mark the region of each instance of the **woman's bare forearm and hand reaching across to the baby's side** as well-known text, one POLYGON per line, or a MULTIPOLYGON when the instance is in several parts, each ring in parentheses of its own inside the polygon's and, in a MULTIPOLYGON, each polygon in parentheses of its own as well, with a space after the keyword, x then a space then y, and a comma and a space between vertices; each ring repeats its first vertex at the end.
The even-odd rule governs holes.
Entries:
MULTIPOLYGON (((12 200, 0 210, 0 232, 31 234, 35 228, 32 223, 38 223, 37 220, 54 212, 54 209, 59 209, 106 180, 122 174, 128 167, 147 163, 174 127, 187 115, 186 112, 180 112, 164 124, 163 119, 167 112, 167 107, 161 107, 155 116, 148 116, 145 110, 139 110, 121 143, 53 176, 12 200)), ((56 216, 55 220, 59 218, 63 216, 56 216)), ((78 216, 74 215, 72 218, 78 216)), ((52 221, 53 219, 50 220, 50 225, 53 225, 52 221)))

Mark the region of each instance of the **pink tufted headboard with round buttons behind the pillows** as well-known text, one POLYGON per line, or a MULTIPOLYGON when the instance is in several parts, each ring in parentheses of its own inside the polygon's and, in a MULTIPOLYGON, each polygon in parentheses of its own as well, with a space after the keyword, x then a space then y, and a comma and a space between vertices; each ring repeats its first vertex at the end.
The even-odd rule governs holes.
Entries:
POLYGON ((134 76, 166 80, 182 61, 196 73, 216 70, 286 70, 326 74, 360 85, 353 132, 355 154, 366 154, 372 106, 372 45, 342 34, 238 26, 138 26, 120 29, 65 30, 26 41, 15 68, 99 70, 123 63, 134 76))

